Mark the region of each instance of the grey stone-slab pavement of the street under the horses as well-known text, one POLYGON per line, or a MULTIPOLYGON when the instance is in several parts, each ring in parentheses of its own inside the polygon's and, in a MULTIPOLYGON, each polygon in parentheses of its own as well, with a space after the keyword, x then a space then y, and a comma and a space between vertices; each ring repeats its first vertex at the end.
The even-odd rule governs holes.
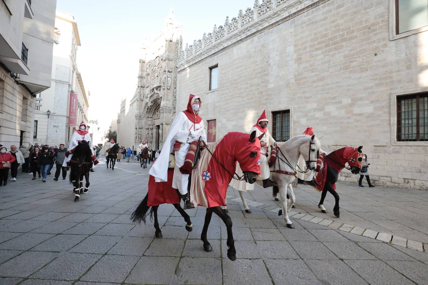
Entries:
POLYGON ((338 183, 337 219, 330 194, 324 203, 330 213, 322 214, 320 194, 299 185, 290 213, 295 229, 288 229, 270 189, 245 193, 247 214, 229 188, 238 257, 230 261, 218 217, 208 231, 214 250, 202 249, 204 208, 187 211, 188 233, 173 206, 160 206, 162 239, 154 238, 152 223, 131 223, 149 177, 136 161, 124 161, 114 171, 101 162, 78 203, 68 177, 50 175, 42 183, 20 174, 0 187, 0 284, 428 283, 428 191, 338 183))

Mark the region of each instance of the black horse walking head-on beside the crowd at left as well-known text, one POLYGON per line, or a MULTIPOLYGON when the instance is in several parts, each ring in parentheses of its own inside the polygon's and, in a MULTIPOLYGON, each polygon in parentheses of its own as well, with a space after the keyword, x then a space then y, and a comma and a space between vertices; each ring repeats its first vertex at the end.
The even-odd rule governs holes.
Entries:
POLYGON ((85 140, 80 141, 74 149, 70 160, 70 183, 73 184, 74 202, 79 201, 80 194, 89 191, 89 170, 92 164, 92 152, 89 143, 85 140), (83 176, 85 176, 86 185, 83 189, 83 176))

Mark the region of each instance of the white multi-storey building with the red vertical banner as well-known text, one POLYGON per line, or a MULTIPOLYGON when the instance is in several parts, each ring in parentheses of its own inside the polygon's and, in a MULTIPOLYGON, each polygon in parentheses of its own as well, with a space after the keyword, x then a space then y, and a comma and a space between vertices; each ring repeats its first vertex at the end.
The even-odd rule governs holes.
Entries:
POLYGON ((80 46, 79 30, 73 15, 56 10, 55 44, 52 60, 52 88, 38 97, 42 101, 36 107, 33 142, 39 144, 68 145, 74 130, 83 120, 88 122, 88 97, 82 75, 77 69, 77 47, 80 46), (72 95, 70 95, 72 94, 72 95), (70 101, 76 96, 77 104, 70 109, 70 101), (70 112, 74 112, 71 114, 70 112), (75 120, 69 120, 74 117, 75 120))

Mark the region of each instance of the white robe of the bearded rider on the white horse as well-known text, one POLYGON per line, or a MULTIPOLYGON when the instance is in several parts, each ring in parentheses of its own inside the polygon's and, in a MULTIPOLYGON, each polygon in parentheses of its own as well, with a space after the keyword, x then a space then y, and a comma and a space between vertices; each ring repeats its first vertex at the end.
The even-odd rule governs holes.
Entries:
MULTIPOLYGON (((250 133, 252 133, 253 131, 256 131, 256 137, 263 134, 263 132, 260 131, 259 128, 255 126, 253 126, 253 128, 250 130, 250 133)), ((266 143, 266 146, 260 149, 260 173, 261 174, 258 176, 258 180, 259 180, 258 182, 260 183, 262 183, 261 182, 262 180, 268 179, 270 176, 269 162, 265 154, 268 151, 268 147, 276 143, 276 141, 270 135, 270 132, 268 129, 266 129, 265 134, 266 135, 264 135, 263 138, 260 140, 260 142, 263 141, 266 143)), ((241 167, 239 166, 239 162, 236 164, 236 174, 238 174, 238 176, 243 175, 241 167)), ((250 184, 245 181, 239 181, 236 179, 232 179, 229 185, 239 191, 254 190, 254 184, 250 184)))

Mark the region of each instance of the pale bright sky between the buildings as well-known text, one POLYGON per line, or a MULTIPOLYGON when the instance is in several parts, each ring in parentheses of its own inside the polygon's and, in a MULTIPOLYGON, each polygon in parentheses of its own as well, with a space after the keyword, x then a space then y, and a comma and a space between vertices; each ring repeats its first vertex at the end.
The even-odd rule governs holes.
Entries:
POLYGON ((239 9, 253 4, 253 0, 57 0, 56 9, 77 21, 82 44, 77 66, 91 92, 89 120, 107 128, 117 118, 120 100, 132 98, 141 43, 158 35, 170 8, 184 27, 185 46, 212 32, 214 24, 223 25, 226 16, 236 17, 239 9))

